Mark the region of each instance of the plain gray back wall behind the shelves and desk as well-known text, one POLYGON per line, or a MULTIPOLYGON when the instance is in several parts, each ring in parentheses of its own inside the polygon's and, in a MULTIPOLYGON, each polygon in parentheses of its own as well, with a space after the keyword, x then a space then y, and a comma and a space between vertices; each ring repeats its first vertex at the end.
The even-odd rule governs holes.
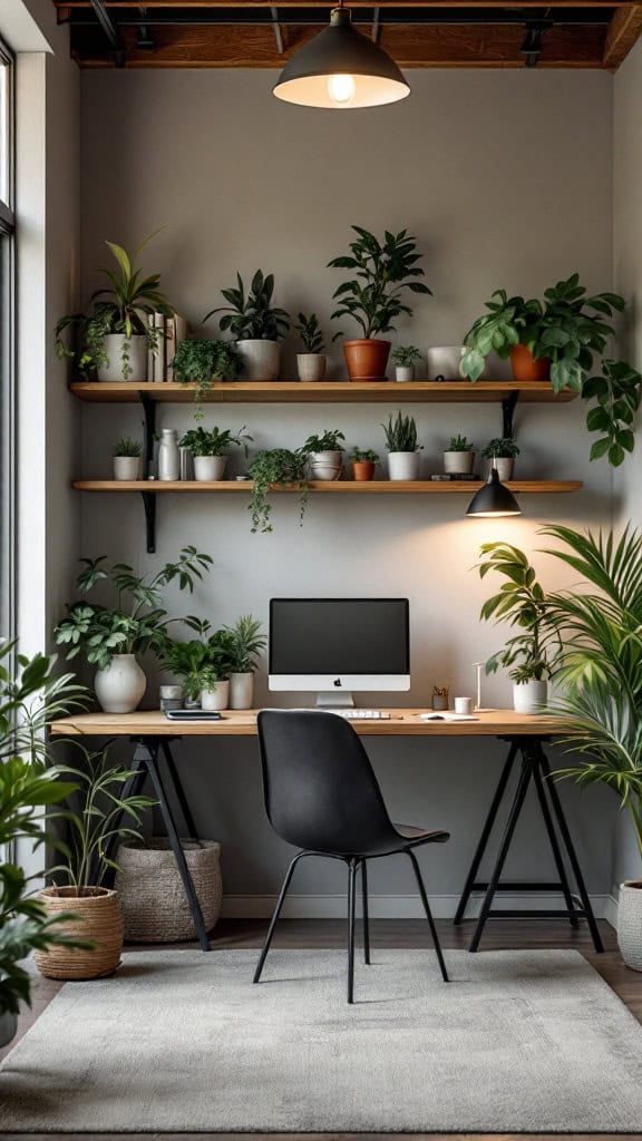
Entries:
MULTIPOLYGON (((326 266, 346 248, 352 222, 377 232, 406 226, 425 253, 434 298, 419 299, 412 321, 400 323, 401 343, 457 343, 500 285, 537 293, 577 269, 589 288, 610 286, 611 76, 414 72, 411 99, 354 116, 283 106, 270 94, 273 79, 263 71, 82 74, 86 293, 94 285, 91 267, 103 262, 104 238, 133 245, 162 225, 167 230, 145 264, 162 270, 172 301, 194 325, 219 304, 219 289, 233 283, 236 269, 247 278, 257 266, 275 272, 280 304, 294 311, 314 308, 327 318, 342 277, 326 266)), ((214 334, 215 326, 209 329, 214 334)), ((292 354, 290 342, 284 375, 294 375, 292 354)), ((337 348, 331 369, 332 375, 342 372, 337 348)), ((395 407, 391 386, 390 408, 395 407)), ((451 432, 464 431, 482 445, 500 431, 492 405, 412 411, 426 471, 441 467, 451 432)), ((383 454, 386 412, 236 405, 208 410, 206 423, 247 423, 256 446, 296 445, 312 430, 340 427, 348 444, 376 446, 383 454)), ((82 420, 82 472, 107 476, 113 440, 121 431, 137 431, 139 413, 135 406, 85 407, 82 420)), ((162 426, 190 423, 188 406, 162 410, 162 426)), ((609 470, 587 462, 581 408, 524 406, 517 432, 522 476, 581 478, 585 491, 568 499, 524 499, 523 519, 479 524, 463 518, 459 499, 319 499, 303 529, 294 502, 283 497, 270 536, 249 534, 236 496, 168 497, 159 502, 154 557, 145 555, 142 507, 134 497, 87 495, 82 552, 157 567, 184 543, 196 543, 214 556, 211 578, 193 600, 172 597, 171 604, 175 613, 207 613, 215 622, 247 610, 265 620, 275 593, 407 594, 414 637, 409 701, 427 704, 435 682, 472 693, 472 663, 505 638, 505 631, 479 623, 489 589, 472 569, 480 542, 506 539, 531 552, 541 545, 537 528, 547 520, 609 518, 609 470)), ((536 563, 548 585, 570 581, 552 560, 537 556, 536 563)), ((152 681, 151 705, 154 688, 152 681)), ((257 697, 267 701, 264 677, 257 697)), ((488 680, 484 697, 508 705, 506 680, 488 680)), ((380 697, 366 695, 364 702, 379 704, 380 697)), ((460 887, 501 750, 492 743, 372 744, 393 814, 452 831, 451 844, 432 865, 442 911, 460 887)), ((180 763, 198 823, 224 843, 227 892, 273 893, 286 853, 263 818, 255 745, 183 748, 180 763)), ((580 798, 571 787, 563 794, 591 889, 604 892, 615 804, 599 793, 580 798)), ((509 871, 532 873, 545 860, 536 827, 529 817, 509 871)), ((411 891, 406 872, 392 863, 380 868, 374 887, 384 896, 411 891)), ((297 890, 321 897, 338 887, 332 871, 307 868, 297 890)), ((305 907, 323 913, 331 901, 318 898, 305 907)))

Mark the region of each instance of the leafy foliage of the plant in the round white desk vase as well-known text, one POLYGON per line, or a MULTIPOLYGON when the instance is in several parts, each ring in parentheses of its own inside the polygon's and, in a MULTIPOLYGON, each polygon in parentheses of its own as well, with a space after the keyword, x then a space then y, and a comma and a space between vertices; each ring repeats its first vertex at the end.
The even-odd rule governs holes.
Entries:
POLYGON ((80 559, 83 569, 77 578, 81 594, 88 594, 98 583, 110 583, 117 593, 115 607, 86 601, 73 602, 67 617, 55 629, 58 646, 66 647, 69 659, 83 653, 87 661, 101 670, 109 667, 117 654, 163 652, 167 628, 171 621, 162 605, 162 591, 176 582, 192 593, 194 584, 212 566, 209 555, 195 547, 184 547, 176 563, 167 563, 155 574, 136 574, 127 563, 104 564, 106 556, 80 559))

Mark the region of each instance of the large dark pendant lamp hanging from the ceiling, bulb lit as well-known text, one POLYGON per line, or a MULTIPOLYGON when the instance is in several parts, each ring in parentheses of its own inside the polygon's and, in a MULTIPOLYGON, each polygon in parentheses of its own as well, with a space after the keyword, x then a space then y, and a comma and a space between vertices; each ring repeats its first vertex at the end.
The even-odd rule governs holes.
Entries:
POLYGON ((396 103, 410 88, 393 59, 358 32, 346 8, 286 64, 273 92, 286 103, 334 111, 396 103))

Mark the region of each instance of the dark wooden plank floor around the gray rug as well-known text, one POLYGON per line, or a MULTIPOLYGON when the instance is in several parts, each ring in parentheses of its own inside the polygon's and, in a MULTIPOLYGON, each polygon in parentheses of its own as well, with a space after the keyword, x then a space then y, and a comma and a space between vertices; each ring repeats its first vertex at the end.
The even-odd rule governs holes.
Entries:
MULTIPOLYGON (((450 921, 440 920, 438 922, 438 928, 440 932, 440 938, 442 940, 442 946, 444 950, 448 949, 465 949, 468 945, 472 924, 464 923, 460 928, 454 928, 450 921)), ((605 922, 600 922, 600 930, 602 933, 602 939, 604 940, 605 953, 603 955, 595 955, 591 938, 586 930, 586 924, 580 923, 577 930, 571 930, 569 925, 561 921, 503 921, 495 920, 490 922, 487 926, 483 940, 482 950, 498 950, 507 948, 562 948, 562 949, 575 949, 581 952, 583 955, 593 964, 595 970, 600 972, 602 978, 613 988, 616 994, 623 1000, 623 1002, 628 1006, 633 1014, 642 1022, 642 974, 636 971, 631 971, 624 965, 619 953, 617 950, 617 940, 613 929, 605 922)), ((258 948, 265 937, 266 922, 263 920, 222 920, 216 930, 212 933, 210 940, 212 948, 222 947, 239 947, 239 948, 258 948)), ((371 936, 372 946, 378 947, 425 947, 426 940, 426 924, 419 920, 375 920, 371 922, 371 936)), ((278 930, 276 937, 274 939, 274 946, 279 947, 300 947, 300 948, 313 948, 323 947, 327 949, 342 948, 345 945, 345 923, 340 920, 283 920, 278 930)), ((198 945, 190 944, 174 944, 177 949, 192 947, 196 949, 198 945)), ((147 944, 145 947, 131 946, 127 948, 128 950, 150 950, 153 949, 152 945, 147 944)), ((163 950, 170 949, 170 947, 164 944, 163 950)), ((57 994, 62 984, 55 982, 51 979, 39 978, 34 986, 33 993, 33 1009, 31 1012, 24 1014, 19 1020, 18 1037, 22 1037, 26 1033, 30 1026, 35 1021, 39 1014, 46 1009, 47 1004, 57 994)), ((17 1041, 17 1039, 16 1039, 17 1041)), ((14 1043, 15 1045, 15 1043, 14 1043)), ((5 1051, 0 1051, 0 1058, 9 1052, 11 1047, 5 1051)), ((0 1079, 0 1097, 1 1097, 1 1079, 0 1079)), ((642 1130, 642 1122, 641 1122, 642 1130)), ((136 1138, 138 1141, 204 1141, 207 1138, 211 1138, 212 1141, 232 1141, 232 1139, 238 1139, 239 1136, 248 1138, 248 1141, 260 1141, 263 1136, 270 1139, 270 1141, 297 1141, 300 1138, 302 1141, 332 1141, 334 1138, 340 1138, 342 1141, 369 1141, 369 1139, 376 1138, 377 1141, 382 1139, 393 1138, 395 1134, 390 1133, 305 1133, 305 1134, 239 1134, 239 1133, 214 1133, 214 1134, 191 1134, 191 1133, 75 1133, 75 1134, 61 1134, 61 1133, 30 1133, 27 1134, 32 1141, 90 1141, 93 1138, 99 1138, 101 1141, 121 1141, 123 1138, 136 1138)), ((406 1134, 404 1134, 406 1135, 406 1134)), ((447 1141, 448 1134, 409 1134, 415 1138, 427 1136, 430 1141, 447 1141)), ((552 1134, 458 1134, 462 1138, 471 1138, 471 1141, 483 1141, 484 1136, 503 1139, 503 1141, 535 1141, 538 1136, 551 1136, 552 1134)), ((568 1135, 568 1134, 564 1134, 568 1135)), ((19 1141, 21 1138, 24 1139, 25 1134, 13 1134, 2 1133, 0 1134, 3 1139, 8 1141, 19 1141)), ((595 1134, 584 1134, 576 1133, 572 1134, 577 1141, 589 1141, 591 1138, 595 1138, 595 1134)), ((642 1141, 642 1132, 634 1134, 600 1134, 601 1138, 615 1138, 615 1136, 626 1136, 632 1139, 632 1141, 642 1141)))

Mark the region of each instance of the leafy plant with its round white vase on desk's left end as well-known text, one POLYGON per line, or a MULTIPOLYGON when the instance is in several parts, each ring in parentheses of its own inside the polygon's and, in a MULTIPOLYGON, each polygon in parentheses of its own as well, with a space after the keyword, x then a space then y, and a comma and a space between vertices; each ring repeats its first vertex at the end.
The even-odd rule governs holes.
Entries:
POLYGON ((73 602, 54 637, 58 646, 66 647, 67 659, 83 653, 90 664, 98 666, 94 686, 105 713, 133 713, 147 685, 136 655, 149 649, 161 654, 172 621, 161 605, 162 590, 176 583, 179 590, 192 592, 194 582, 210 569, 212 560, 194 547, 184 547, 176 563, 167 563, 153 575, 138 575, 126 563, 107 569, 105 559, 105 555, 80 559, 85 566, 77 586, 85 596, 98 583, 111 583, 118 593, 117 607, 73 602))

